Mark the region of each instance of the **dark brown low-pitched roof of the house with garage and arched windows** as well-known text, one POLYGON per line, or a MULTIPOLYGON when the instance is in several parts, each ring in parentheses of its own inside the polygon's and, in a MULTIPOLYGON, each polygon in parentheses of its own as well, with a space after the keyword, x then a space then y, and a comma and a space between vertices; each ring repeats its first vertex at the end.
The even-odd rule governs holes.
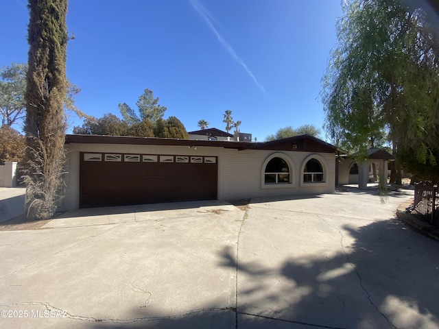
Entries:
POLYGON ((335 153, 337 147, 310 135, 300 135, 278 139, 270 142, 235 142, 235 141, 197 141, 193 139, 131 137, 131 136, 102 136, 102 135, 66 135, 66 143, 93 144, 132 144, 132 145, 172 145, 172 146, 206 146, 224 147, 228 149, 263 149, 273 151, 311 151, 335 153))

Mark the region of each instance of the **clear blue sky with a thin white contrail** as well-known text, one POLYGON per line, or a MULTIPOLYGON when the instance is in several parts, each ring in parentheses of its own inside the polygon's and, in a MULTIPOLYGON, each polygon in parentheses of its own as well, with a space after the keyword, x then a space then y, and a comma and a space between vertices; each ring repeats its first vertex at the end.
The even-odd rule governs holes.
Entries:
MULTIPOLYGON (((0 66, 27 62, 25 0, 0 3, 0 66)), ((67 77, 78 108, 120 117, 118 104, 153 90, 165 118, 224 130, 225 110, 258 141, 287 125, 324 123, 318 95, 337 0, 71 0, 67 77)), ((75 117, 73 125, 81 125, 75 117)), ((324 138, 324 132, 322 131, 324 138)))

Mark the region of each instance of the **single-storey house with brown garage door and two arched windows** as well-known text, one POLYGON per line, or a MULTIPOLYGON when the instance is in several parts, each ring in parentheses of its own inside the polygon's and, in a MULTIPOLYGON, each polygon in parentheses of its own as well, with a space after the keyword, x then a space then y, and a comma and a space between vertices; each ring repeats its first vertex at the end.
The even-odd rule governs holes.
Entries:
POLYGON ((332 193, 336 147, 309 135, 265 143, 67 135, 64 210, 332 193))

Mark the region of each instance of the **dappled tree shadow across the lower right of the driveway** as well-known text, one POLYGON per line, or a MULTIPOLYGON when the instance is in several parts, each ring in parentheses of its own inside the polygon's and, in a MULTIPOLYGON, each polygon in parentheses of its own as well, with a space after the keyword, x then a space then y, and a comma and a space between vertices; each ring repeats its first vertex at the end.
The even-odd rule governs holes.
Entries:
MULTIPOLYGON (((344 225, 331 256, 248 261, 221 250, 219 267, 235 269, 235 305, 206 302, 187 314, 132 310, 126 323, 92 328, 438 328, 439 244, 396 220, 344 225), (350 242, 351 241, 351 242, 350 242), (273 265, 274 264, 274 265, 273 265), (134 315, 134 317, 133 317, 134 315), (135 320, 134 320, 135 319, 135 320)), ((285 245, 284 248, 289 246, 285 245)))

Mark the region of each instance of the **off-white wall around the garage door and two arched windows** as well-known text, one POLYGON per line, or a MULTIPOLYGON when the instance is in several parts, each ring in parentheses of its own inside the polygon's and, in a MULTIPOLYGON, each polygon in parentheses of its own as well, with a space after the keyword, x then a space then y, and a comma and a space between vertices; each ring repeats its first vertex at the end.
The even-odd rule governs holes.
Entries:
POLYGON ((156 145, 116 145, 116 144, 75 144, 67 145, 67 174, 64 175, 66 195, 62 208, 79 207, 80 151, 132 154, 173 154, 187 156, 217 156, 218 199, 241 199, 264 196, 333 193, 335 190, 335 154, 316 154, 324 167, 324 183, 303 183, 302 167, 312 155, 302 151, 265 151, 224 149, 222 147, 156 146, 156 145), (289 158, 294 167, 292 184, 263 186, 263 163, 272 154, 281 153, 289 158))

